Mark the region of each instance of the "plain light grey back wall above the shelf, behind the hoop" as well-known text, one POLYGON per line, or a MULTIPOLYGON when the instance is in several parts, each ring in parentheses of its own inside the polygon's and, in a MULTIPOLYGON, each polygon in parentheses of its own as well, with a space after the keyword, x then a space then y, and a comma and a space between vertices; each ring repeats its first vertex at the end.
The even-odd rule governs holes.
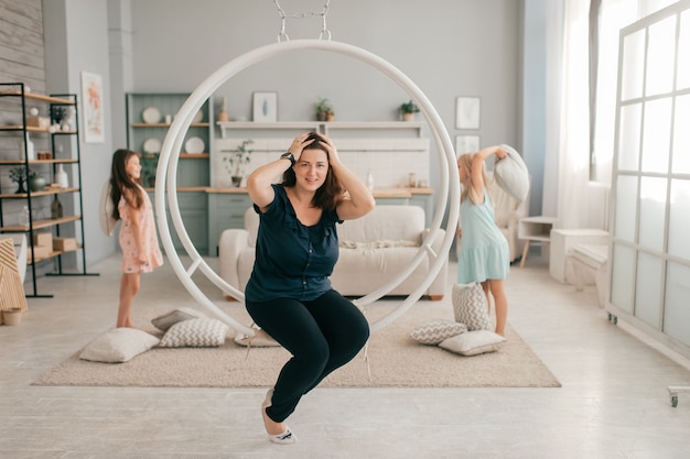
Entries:
MULTIPOLYGON (((288 14, 320 11, 313 0, 283 0, 288 14)), ((455 98, 482 98, 482 144, 518 147, 520 1, 430 2, 334 0, 327 15, 332 40, 370 51, 396 65, 429 97, 451 138, 455 98)), ((277 41, 280 18, 272 1, 139 0, 131 2, 134 91, 191 91, 223 64, 277 41)), ((291 40, 316 39, 317 19, 290 19, 291 40)), ((230 118, 251 119, 251 94, 276 90, 279 120, 313 118, 327 97, 339 121, 397 119, 409 99, 378 72, 352 58, 320 52, 281 55, 238 74, 217 95, 230 118)), ((122 114, 123 119, 123 114, 122 114)), ((123 140, 117 140, 123 142, 123 140)), ((431 185, 439 183, 432 153, 431 185)))

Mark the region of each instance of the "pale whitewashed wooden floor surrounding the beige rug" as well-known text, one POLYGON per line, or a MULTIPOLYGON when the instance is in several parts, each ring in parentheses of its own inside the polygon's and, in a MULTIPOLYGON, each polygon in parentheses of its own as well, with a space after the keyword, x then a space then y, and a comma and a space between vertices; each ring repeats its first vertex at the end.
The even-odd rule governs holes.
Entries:
MULTIPOLYGON (((666 390, 690 383, 687 362, 611 324, 592 287, 554 282, 538 256, 511 267, 509 323, 559 389, 316 389, 289 419, 300 441, 278 446, 259 414, 266 390, 32 385, 114 326, 118 270, 112 258, 89 266, 99 277, 42 278, 54 298, 30 299, 21 325, 0 327, 0 458, 680 459, 690 451, 690 394, 673 408, 666 390)), ((165 270, 143 277, 137 304, 191 302, 165 270)))

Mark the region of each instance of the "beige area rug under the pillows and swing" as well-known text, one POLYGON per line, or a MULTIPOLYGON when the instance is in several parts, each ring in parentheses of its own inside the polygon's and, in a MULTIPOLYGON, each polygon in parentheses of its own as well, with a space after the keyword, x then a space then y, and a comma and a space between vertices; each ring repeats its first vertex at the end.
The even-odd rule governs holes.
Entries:
MULTIPOLYGON (((417 343, 410 338, 410 331, 414 327, 435 318, 453 318, 449 305, 445 302, 439 303, 441 304, 418 303, 391 325, 373 334, 368 346, 368 363, 363 351, 351 363, 332 373, 321 386, 560 387, 561 384, 554 375, 510 327, 506 336, 508 341, 497 352, 481 356, 462 357, 436 346, 417 343)), ((369 306, 370 309, 366 313, 370 321, 391 308, 377 308, 377 305, 369 306)), ((236 313, 240 314, 238 312, 239 309, 236 313)), ((150 315, 149 318, 155 315, 150 315)), ((147 329, 152 334, 154 330, 152 327, 147 329)), ((233 331, 220 348, 153 348, 126 363, 80 360, 79 350, 43 374, 34 384, 271 386, 290 354, 282 348, 251 348, 247 356, 247 349, 235 345, 231 335, 233 331)))

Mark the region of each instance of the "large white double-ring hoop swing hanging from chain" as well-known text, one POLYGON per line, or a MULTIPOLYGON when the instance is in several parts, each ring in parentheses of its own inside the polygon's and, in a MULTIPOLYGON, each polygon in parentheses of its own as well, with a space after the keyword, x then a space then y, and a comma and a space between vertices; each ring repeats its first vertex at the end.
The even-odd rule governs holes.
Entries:
POLYGON ((388 292, 390 292, 391 288, 400 284, 414 271, 419 263, 421 263, 421 261, 424 259, 427 253, 431 255, 433 262, 431 264, 429 273, 427 274, 425 280, 405 299, 405 302, 402 302, 388 315, 370 324, 371 331, 376 331, 391 324, 393 320, 405 314, 423 295, 424 291, 433 282, 433 278, 441 271, 444 262, 443 256, 448 256, 451 244, 453 242, 453 238, 455 236, 455 228, 457 226, 457 216, 460 211, 460 182, 457 178, 455 154, 453 145, 451 143, 451 139, 448 131, 445 130, 445 127, 443 125, 441 117, 439 117, 439 113, 435 111, 429 99, 414 85, 414 83, 409 79, 405 74, 402 74, 398 68, 378 57, 377 55, 359 47, 323 40, 295 40, 279 42, 252 50, 239 57, 236 57, 235 59, 225 64, 223 67, 218 68, 211 76, 208 76, 194 90, 194 92, 190 95, 187 100, 180 109, 179 113, 175 116, 175 119, 165 136, 165 140, 163 141, 163 146, 159 157, 157 168, 158 179, 155 181, 155 214, 158 229, 160 231, 161 241, 165 249, 165 253, 168 254, 168 259, 177 277, 190 292, 190 294, 201 305, 212 310, 220 320, 228 324, 228 326, 230 326, 233 329, 248 336, 254 336, 254 329, 238 323, 233 317, 223 312, 216 304, 208 299, 208 297, 198 288, 198 286, 192 280, 192 274, 200 270, 213 284, 215 284, 222 291, 227 292, 235 298, 244 302, 244 294, 239 292, 235 286, 229 285, 220 276, 218 276, 218 274, 216 274, 216 272, 208 266, 208 264, 196 251, 186 232, 186 229, 184 228, 184 223, 182 222, 180 206, 177 204, 177 194, 169 193, 168 204, 172 222, 180 238, 180 241, 182 242, 182 245, 192 259, 192 263, 188 267, 185 269, 183 266, 180 256, 177 255, 175 248, 173 247, 170 228, 168 226, 168 219, 165 218, 165 187, 168 187, 168 189, 170 190, 176 189, 177 161, 180 159, 182 142, 184 141, 184 135, 192 123, 192 119, 201 109, 206 99, 208 99, 220 85, 223 85, 240 70, 244 70, 245 68, 250 67, 272 56, 303 50, 317 50, 343 54, 348 57, 359 59, 363 63, 377 68, 382 74, 390 77, 402 89, 405 89, 420 107, 421 113, 429 122, 432 136, 438 147, 439 164, 441 167, 441 184, 438 194, 436 209, 427 239, 424 240, 422 247, 419 249, 417 255, 412 260, 412 263, 403 271, 401 271, 397 277, 391 280, 389 283, 380 286, 376 291, 369 293, 368 295, 355 299, 354 303, 358 306, 366 306, 386 295, 388 292), (433 241, 440 232, 441 221, 443 219, 443 214, 449 197, 451 205, 449 208, 449 219, 445 236, 441 244, 441 252, 434 253, 431 249, 431 241, 433 241))

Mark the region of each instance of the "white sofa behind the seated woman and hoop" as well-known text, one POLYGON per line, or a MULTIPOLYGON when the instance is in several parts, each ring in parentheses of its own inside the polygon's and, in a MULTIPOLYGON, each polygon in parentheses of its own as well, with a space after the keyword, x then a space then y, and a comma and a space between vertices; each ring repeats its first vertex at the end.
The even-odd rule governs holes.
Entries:
MULTIPOLYGON (((227 229, 220 234, 218 256, 220 276, 244 292, 255 261, 259 217, 249 208, 245 229, 227 229)), ((341 253, 331 276, 333 288, 345 296, 364 296, 397 276, 410 265, 429 230, 424 210, 418 206, 379 205, 367 216, 337 226, 341 253)), ((440 230, 431 244, 443 256, 441 271, 425 291, 431 299, 441 299, 448 282, 448 253, 440 253, 445 231, 440 230)), ((417 269, 388 295, 409 295, 427 277, 433 260, 427 256, 417 269)), ((230 298, 228 298, 230 299, 230 298)))

